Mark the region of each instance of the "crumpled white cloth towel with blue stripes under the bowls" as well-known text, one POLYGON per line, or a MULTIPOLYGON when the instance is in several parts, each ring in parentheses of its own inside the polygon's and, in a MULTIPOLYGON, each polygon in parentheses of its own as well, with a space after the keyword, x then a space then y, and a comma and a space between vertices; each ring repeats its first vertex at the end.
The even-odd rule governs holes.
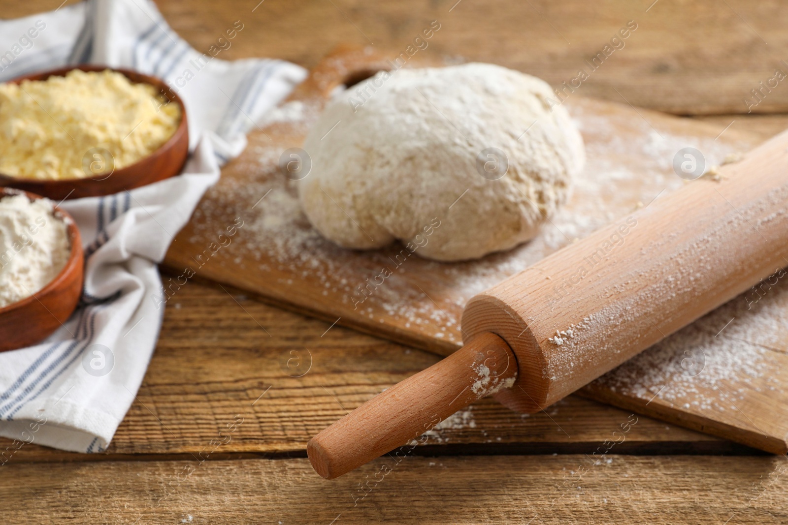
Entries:
POLYGON ((244 134, 306 76, 284 61, 222 60, 244 29, 236 21, 200 53, 150 0, 88 0, 0 20, 0 81, 83 62, 136 69, 180 94, 191 137, 180 176, 61 204, 85 243, 83 297, 44 342, 0 353, 0 435, 16 440, 0 463, 30 442, 101 452, 135 400, 162 324, 156 264, 219 166, 246 146, 244 134))

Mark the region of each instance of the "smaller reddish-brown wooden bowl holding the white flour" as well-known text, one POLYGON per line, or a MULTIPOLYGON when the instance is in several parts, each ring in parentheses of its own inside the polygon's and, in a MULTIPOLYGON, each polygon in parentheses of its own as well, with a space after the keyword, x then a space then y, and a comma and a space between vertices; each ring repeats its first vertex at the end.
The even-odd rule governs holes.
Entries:
MULTIPOLYGON (((25 194, 33 201, 41 198, 27 191, 0 188, 0 198, 25 194)), ((71 252, 63 269, 45 287, 28 298, 0 308, 0 352, 24 348, 49 336, 69 319, 82 295, 84 254, 80 230, 72 217, 54 207, 54 215, 65 220, 71 252)))

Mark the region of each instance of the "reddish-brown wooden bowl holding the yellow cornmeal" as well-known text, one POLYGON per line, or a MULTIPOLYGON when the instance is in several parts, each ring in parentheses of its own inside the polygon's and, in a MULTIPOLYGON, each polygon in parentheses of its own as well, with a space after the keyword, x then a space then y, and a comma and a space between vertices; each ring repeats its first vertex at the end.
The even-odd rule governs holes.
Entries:
POLYGON ((33 75, 20 76, 17 79, 10 80, 10 82, 18 84, 22 80, 46 80, 50 76, 65 76, 66 73, 73 69, 82 71, 104 71, 105 69, 110 69, 111 71, 122 73, 133 83, 148 83, 157 87, 165 98, 180 105, 180 124, 178 124, 175 133, 167 142, 159 146, 158 150, 132 165, 114 170, 111 174, 102 173, 92 178, 58 180, 23 179, 0 174, 0 187, 13 187, 43 195, 43 197, 56 201, 62 201, 66 198, 116 194, 119 191, 145 186, 180 173, 189 153, 186 108, 177 93, 172 91, 162 79, 143 75, 143 73, 130 69, 106 68, 100 65, 78 65, 76 67, 59 68, 33 75))

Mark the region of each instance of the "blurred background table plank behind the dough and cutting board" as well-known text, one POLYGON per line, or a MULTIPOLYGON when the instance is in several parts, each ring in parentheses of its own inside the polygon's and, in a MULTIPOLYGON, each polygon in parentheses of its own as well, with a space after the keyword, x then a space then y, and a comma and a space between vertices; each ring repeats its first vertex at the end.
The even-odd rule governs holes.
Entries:
MULTIPOLYGON (((3 2, 0 16, 51 10, 61 2, 3 2)), ((73 3, 69 0, 65 5, 73 3)), ((236 20, 244 29, 219 57, 277 57, 310 68, 341 43, 400 54, 432 20, 441 29, 423 54, 495 62, 569 82, 627 22, 624 46, 578 94, 677 114, 747 113, 745 98, 775 69, 788 74, 788 10, 781 2, 607 0, 605 2, 363 2, 227 0, 158 2, 167 22, 206 52, 236 20)), ((422 54, 422 51, 418 52, 422 54)), ((788 86, 764 91, 753 113, 788 113, 788 86)))

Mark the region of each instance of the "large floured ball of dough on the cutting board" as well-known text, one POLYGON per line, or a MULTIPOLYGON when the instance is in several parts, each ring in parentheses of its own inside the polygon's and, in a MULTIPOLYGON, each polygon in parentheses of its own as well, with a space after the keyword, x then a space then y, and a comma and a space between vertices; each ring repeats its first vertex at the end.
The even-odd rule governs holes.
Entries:
POLYGON ((548 84, 490 64, 380 72, 327 105, 304 150, 299 198, 322 235, 438 261, 533 238, 585 161, 548 84))

